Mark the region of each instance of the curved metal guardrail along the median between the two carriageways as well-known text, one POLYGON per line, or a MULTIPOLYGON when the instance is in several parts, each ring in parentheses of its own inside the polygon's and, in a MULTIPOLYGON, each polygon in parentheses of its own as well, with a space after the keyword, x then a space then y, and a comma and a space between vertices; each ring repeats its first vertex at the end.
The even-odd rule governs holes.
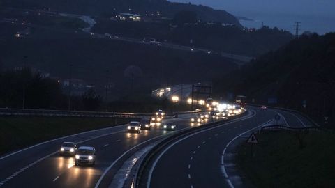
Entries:
POLYGON ((135 173, 135 178, 133 180, 133 187, 134 188, 139 187, 144 169, 147 166, 147 164, 149 164, 151 159, 161 149, 163 149, 165 146, 168 146, 168 144, 170 144, 173 141, 179 139, 179 137, 181 137, 181 136, 186 136, 188 134, 192 134, 193 132, 197 132, 199 130, 205 130, 205 129, 208 129, 208 128, 211 128, 211 127, 216 127, 218 125, 221 125, 222 123, 229 122, 230 120, 232 120, 234 118, 239 118, 241 116, 244 116, 244 113, 241 113, 240 115, 237 115, 237 116, 231 116, 230 118, 227 118, 227 119, 224 119, 224 120, 219 120, 219 121, 214 122, 214 123, 207 123, 207 124, 204 124, 204 125, 199 126, 199 127, 193 127, 191 129, 178 132, 177 134, 173 134, 172 136, 169 136, 166 139, 163 139, 163 141, 159 142, 156 146, 154 146, 154 148, 152 148, 149 152, 147 152, 147 154, 144 156, 144 158, 140 162, 140 166, 137 168, 137 171, 135 173))

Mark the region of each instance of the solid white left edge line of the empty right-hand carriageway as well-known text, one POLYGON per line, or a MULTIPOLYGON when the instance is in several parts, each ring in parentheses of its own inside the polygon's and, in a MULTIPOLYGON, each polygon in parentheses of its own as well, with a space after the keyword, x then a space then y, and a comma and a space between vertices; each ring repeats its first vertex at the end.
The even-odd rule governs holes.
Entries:
MULTIPOLYGON (((241 117, 241 118, 238 118, 237 120, 234 120, 233 122, 223 123, 222 125, 218 125, 217 127, 211 127, 211 128, 209 128, 209 129, 206 129, 206 130, 202 130, 202 131, 199 131, 199 132, 195 132, 195 133, 193 133, 193 134, 190 134, 190 135, 188 135, 188 136, 185 136, 184 138, 179 139, 178 141, 176 141, 176 142, 170 144, 170 146, 168 146, 168 148, 165 148, 165 150, 163 150, 163 152, 161 152, 161 153, 158 155, 158 157, 156 157, 154 163, 151 165, 151 168, 149 169, 148 179, 147 179, 147 188, 150 188, 152 173, 154 172, 154 169, 155 169, 155 167, 156 167, 156 165, 157 165, 159 159, 161 159, 161 157, 165 154, 165 152, 167 152, 168 150, 170 150, 170 148, 172 148, 174 145, 176 145, 177 143, 179 143, 179 142, 181 142, 181 141, 184 141, 185 139, 188 139, 189 137, 194 136, 194 135, 196 135, 196 134, 200 134, 200 133, 202 133, 202 132, 207 132, 207 131, 209 131, 209 130, 218 129, 218 128, 221 128, 221 127, 223 127, 223 126, 225 126, 225 125, 230 125, 230 124, 232 124, 232 123, 236 123, 236 122, 239 122, 239 121, 241 121, 241 120, 246 120, 246 119, 248 119, 248 118, 253 118, 254 116, 256 116, 255 111, 253 111, 253 115, 248 115, 248 116, 246 116, 246 117, 241 117)), ((96 188, 97 188, 97 187, 96 187, 96 188)))

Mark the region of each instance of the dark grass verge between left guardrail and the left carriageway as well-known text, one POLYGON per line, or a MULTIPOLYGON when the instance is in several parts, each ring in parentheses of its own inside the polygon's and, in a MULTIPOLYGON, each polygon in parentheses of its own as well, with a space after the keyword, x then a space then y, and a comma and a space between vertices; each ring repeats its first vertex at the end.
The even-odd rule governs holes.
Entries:
POLYGON ((1 117, 0 155, 87 130, 128 123, 127 118, 1 117))

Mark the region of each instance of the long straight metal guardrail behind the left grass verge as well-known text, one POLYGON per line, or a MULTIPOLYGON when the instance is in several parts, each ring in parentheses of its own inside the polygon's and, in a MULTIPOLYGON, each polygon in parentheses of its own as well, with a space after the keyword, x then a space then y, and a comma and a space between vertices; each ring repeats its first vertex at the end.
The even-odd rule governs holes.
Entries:
MULTIPOLYGON (((198 113, 195 111, 178 111, 174 113, 198 113)), ((0 116, 59 116, 59 117, 91 117, 91 118, 142 118, 154 115, 154 113, 122 113, 122 112, 104 112, 104 111, 59 111, 45 109, 8 109, 0 108, 0 116)), ((173 114, 167 114, 172 116, 173 114)))

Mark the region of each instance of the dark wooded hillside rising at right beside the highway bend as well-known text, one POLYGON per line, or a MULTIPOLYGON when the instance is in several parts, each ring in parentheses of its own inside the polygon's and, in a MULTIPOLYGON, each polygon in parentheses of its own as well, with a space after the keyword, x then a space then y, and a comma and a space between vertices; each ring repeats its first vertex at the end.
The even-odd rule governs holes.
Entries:
POLYGON ((321 124, 329 117, 330 125, 335 115, 334 62, 335 33, 301 36, 214 81, 216 93, 247 95, 258 104, 277 98, 279 106, 306 112, 321 124))

